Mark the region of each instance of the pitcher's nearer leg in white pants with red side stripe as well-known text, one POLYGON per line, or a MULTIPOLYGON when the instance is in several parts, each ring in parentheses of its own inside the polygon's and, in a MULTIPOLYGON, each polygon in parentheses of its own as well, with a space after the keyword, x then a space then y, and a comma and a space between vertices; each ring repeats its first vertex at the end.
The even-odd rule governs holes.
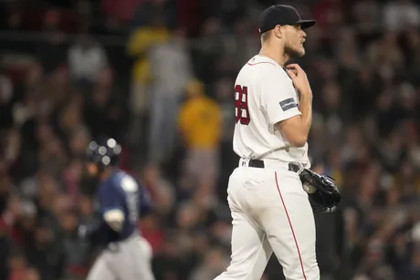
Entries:
POLYGON ((308 194, 298 174, 273 171, 272 176, 273 184, 266 190, 269 201, 259 216, 268 242, 287 280, 319 280, 315 221, 308 194))

